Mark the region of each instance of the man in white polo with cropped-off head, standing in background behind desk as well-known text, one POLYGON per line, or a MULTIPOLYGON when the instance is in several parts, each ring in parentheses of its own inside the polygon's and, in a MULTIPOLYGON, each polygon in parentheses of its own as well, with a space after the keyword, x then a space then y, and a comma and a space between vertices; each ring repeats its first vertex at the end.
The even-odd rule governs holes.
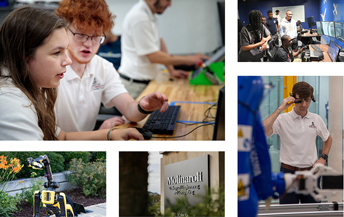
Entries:
MULTIPOLYGON (((125 15, 121 37, 122 58, 118 72, 129 94, 136 98, 159 73, 159 65, 166 66, 171 76, 186 78, 188 72, 176 70, 174 65, 196 65, 208 57, 197 54, 172 56, 160 36, 155 14, 162 14, 171 0, 140 0, 125 15)), ((171 27, 173 28, 173 27, 171 27)))

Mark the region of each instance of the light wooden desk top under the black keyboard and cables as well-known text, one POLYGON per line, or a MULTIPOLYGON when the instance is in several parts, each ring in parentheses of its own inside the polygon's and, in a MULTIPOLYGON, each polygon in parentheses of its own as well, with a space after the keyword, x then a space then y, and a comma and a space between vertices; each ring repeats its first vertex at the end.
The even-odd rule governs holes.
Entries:
MULTIPOLYGON (((162 74, 162 73, 160 73, 162 74)), ((219 90, 222 85, 190 85, 188 79, 174 79, 169 80, 169 76, 162 74, 158 76, 155 81, 149 82, 146 89, 138 96, 137 100, 141 99, 148 93, 158 91, 165 94, 168 97, 168 102, 173 101, 192 101, 192 102, 217 102, 219 97, 219 90)), ((204 112, 211 104, 195 104, 195 103, 176 103, 181 105, 178 120, 182 121, 203 121, 205 118, 204 112)), ((211 110, 211 115, 216 117, 216 109, 211 110)), ((148 116, 138 123, 126 123, 120 128, 128 127, 143 127, 148 116)), ((181 136, 189 133, 196 127, 202 124, 184 125, 181 123, 176 124, 176 128, 173 135, 160 135, 153 134, 158 137, 172 137, 181 136)), ((187 136, 180 138, 151 138, 151 140, 211 140, 214 126, 208 125, 197 128, 195 131, 187 136)))

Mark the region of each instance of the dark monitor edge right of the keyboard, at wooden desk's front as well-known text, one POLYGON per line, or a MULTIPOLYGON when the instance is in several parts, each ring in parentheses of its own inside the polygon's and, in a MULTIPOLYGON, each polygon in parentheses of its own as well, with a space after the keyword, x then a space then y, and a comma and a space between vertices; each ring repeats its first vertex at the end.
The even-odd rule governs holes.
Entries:
POLYGON ((212 140, 225 140, 225 86, 220 89, 212 140))

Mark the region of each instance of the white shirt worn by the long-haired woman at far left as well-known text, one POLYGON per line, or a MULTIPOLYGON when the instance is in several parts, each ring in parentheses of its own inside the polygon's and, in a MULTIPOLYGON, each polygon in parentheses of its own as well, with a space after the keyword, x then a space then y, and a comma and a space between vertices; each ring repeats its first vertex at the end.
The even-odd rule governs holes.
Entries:
MULTIPOLYGON (((12 79, 3 81, 0 79, 0 140, 43 140, 34 105, 12 79)), ((56 127, 56 135, 59 133, 56 127)))

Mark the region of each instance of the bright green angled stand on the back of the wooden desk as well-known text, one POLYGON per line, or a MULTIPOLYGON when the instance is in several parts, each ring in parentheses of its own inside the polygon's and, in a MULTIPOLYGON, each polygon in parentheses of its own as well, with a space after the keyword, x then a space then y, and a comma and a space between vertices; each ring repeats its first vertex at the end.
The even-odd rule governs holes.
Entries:
MULTIPOLYGON (((214 72, 214 74, 216 74, 217 79, 219 79, 220 82, 222 83, 224 83, 224 74, 225 74, 224 68, 225 68, 225 62, 216 62, 216 63, 210 64, 209 66, 209 69, 212 72, 214 72)), ((192 71, 192 75, 189 77, 190 84, 212 85, 213 83, 209 80, 209 78, 205 74, 206 71, 207 70, 204 69, 201 73, 196 75, 194 79, 192 79, 192 77, 193 77, 193 73, 195 72, 192 71)))

